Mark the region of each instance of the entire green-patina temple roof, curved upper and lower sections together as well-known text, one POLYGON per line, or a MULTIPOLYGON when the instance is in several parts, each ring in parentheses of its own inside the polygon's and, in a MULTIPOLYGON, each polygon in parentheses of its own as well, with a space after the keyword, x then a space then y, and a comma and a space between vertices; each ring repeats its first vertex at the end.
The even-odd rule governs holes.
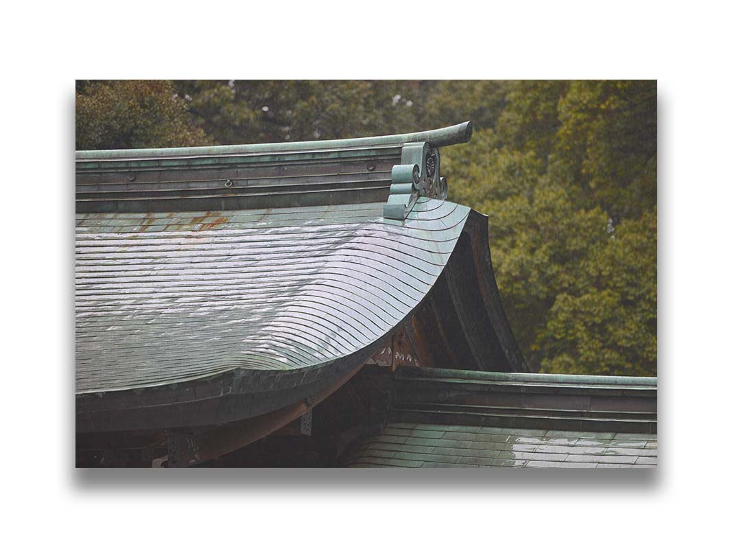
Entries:
MULTIPOLYGON (((526 370, 487 219, 445 200, 439 148, 471 132, 77 152, 78 432, 310 408, 412 321, 428 355, 430 340, 461 342, 433 353, 452 366, 526 370)), ((404 368, 392 381, 389 425, 345 464, 657 460, 655 378, 404 368)))

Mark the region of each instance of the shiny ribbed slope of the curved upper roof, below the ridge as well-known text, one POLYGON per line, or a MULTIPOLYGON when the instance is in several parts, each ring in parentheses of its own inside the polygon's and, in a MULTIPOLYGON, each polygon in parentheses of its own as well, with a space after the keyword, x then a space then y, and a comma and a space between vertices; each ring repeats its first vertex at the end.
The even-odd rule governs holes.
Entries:
POLYGON ((420 198, 76 216, 77 394, 354 354, 432 288, 470 212, 420 198))

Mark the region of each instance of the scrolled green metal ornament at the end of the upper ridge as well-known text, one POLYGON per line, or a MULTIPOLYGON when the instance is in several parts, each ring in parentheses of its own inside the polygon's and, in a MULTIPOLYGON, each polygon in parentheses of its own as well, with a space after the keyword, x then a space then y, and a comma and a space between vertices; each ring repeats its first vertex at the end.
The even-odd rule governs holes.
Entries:
POLYGON ((419 196, 447 198, 447 180, 440 177, 440 151, 430 143, 406 143, 401 163, 392 168, 384 217, 405 220, 419 196))

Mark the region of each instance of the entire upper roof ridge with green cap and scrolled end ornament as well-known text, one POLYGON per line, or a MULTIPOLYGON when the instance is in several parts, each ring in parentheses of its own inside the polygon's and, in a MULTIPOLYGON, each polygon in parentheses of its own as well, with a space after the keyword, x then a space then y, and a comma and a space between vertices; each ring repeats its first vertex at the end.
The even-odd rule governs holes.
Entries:
POLYGON ((82 151, 77 212, 193 212, 381 202, 403 220, 417 196, 447 198, 439 148, 472 123, 403 135, 258 145, 82 151))

